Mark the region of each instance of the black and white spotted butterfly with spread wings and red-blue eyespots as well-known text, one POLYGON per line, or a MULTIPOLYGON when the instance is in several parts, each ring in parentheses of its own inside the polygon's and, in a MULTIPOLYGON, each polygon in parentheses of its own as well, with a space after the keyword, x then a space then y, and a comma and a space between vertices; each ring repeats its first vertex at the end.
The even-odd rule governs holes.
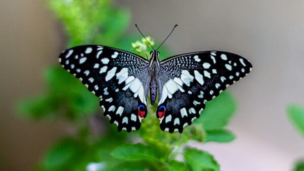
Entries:
POLYGON ((192 52, 165 60, 159 56, 158 49, 147 60, 116 48, 85 45, 67 49, 59 61, 100 98, 110 123, 127 132, 140 128, 147 115, 147 98, 153 105, 158 95, 161 130, 182 133, 200 117, 207 101, 252 68, 248 60, 229 52, 192 52))

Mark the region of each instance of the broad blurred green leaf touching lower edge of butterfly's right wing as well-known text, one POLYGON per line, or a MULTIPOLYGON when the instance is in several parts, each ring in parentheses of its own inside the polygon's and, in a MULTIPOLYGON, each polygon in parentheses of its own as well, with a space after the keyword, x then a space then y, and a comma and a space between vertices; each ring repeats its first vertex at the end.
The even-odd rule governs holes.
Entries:
POLYGON ((231 116, 236 111, 236 102, 227 92, 222 92, 218 97, 206 103, 199 119, 195 123, 201 123, 206 130, 222 129, 227 125, 231 116))

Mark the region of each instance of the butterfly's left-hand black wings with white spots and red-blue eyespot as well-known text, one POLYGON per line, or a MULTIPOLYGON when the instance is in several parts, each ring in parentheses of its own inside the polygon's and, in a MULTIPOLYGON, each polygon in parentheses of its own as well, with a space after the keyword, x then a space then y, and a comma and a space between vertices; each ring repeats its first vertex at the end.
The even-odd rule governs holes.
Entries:
POLYGON ((140 56, 104 46, 64 51, 60 64, 100 97, 100 106, 118 130, 138 130, 145 117, 148 62, 140 56))

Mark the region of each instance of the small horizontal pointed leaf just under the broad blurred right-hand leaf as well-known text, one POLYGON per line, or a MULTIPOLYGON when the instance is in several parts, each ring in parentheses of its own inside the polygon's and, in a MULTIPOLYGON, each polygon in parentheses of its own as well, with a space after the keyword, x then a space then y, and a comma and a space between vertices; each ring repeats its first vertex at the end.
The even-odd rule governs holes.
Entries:
POLYGON ((233 141, 236 136, 224 129, 219 129, 219 130, 206 130, 206 138, 205 142, 218 142, 218 143, 227 143, 233 141))

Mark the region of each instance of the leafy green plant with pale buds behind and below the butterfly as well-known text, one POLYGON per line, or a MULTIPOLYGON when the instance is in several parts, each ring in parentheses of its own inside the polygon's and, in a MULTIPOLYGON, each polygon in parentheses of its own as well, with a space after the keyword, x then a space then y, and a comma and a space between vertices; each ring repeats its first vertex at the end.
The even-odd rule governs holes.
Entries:
MULTIPOLYGON (((155 44, 151 37, 124 36, 130 12, 109 0, 44 1, 63 25, 67 48, 99 44, 149 56, 147 41, 155 44)), ((165 47, 160 52, 161 59, 172 55, 165 47)), ((207 102, 201 117, 182 134, 161 131, 155 116, 157 105, 148 106, 139 131, 119 133, 116 125, 102 116, 99 99, 73 75, 58 65, 48 68, 44 78, 46 91, 22 100, 20 113, 37 120, 67 120, 77 133, 54 144, 34 170, 219 170, 210 153, 189 148, 188 142, 224 143, 235 139, 225 129, 236 110, 234 99, 226 92, 207 102), (96 129, 103 132, 94 135, 96 129), (183 156, 182 161, 176 160, 178 155, 183 156)))

